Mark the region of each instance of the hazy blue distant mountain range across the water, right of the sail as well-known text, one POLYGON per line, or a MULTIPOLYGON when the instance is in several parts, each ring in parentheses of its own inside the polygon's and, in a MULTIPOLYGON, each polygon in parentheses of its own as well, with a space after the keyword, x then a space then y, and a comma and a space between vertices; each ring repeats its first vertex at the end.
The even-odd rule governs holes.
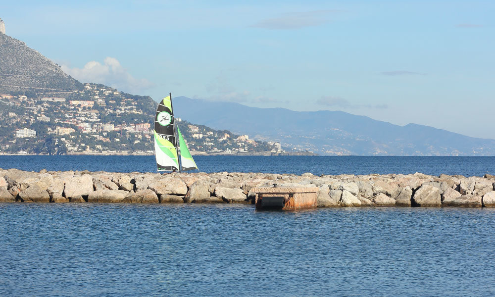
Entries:
POLYGON ((182 118, 327 155, 495 155, 495 140, 429 126, 394 125, 343 111, 257 108, 234 102, 176 97, 182 118))

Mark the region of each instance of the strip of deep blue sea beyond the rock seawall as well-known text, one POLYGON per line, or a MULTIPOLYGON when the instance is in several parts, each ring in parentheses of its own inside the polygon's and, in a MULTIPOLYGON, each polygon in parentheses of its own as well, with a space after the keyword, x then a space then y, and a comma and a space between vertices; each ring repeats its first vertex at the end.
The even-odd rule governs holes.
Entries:
MULTIPOLYGON (((195 156, 202 172, 302 174, 495 174, 495 157, 452 156, 195 156)), ((154 156, 0 156, 0 168, 155 172, 154 156)))

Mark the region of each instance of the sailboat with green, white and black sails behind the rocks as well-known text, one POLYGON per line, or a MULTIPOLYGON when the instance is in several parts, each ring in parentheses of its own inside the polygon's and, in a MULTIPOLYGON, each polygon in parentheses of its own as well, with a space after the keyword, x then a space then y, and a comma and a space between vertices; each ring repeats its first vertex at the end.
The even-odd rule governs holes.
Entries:
POLYGON ((154 120, 156 167, 159 171, 188 171, 198 169, 175 123, 172 94, 158 104, 154 120))

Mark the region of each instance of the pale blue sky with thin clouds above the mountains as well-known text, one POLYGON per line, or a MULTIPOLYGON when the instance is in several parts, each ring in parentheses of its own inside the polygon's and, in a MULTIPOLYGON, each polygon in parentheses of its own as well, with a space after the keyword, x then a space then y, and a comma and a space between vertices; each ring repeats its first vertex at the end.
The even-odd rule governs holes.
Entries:
POLYGON ((495 139, 495 1, 3 0, 81 82, 495 139))

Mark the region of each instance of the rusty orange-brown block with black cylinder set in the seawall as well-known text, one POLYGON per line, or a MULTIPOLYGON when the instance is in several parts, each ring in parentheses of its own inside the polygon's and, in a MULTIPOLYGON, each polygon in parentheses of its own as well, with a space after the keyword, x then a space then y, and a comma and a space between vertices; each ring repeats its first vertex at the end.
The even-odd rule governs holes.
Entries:
POLYGON ((316 208, 316 187, 255 188, 256 209, 316 208))

